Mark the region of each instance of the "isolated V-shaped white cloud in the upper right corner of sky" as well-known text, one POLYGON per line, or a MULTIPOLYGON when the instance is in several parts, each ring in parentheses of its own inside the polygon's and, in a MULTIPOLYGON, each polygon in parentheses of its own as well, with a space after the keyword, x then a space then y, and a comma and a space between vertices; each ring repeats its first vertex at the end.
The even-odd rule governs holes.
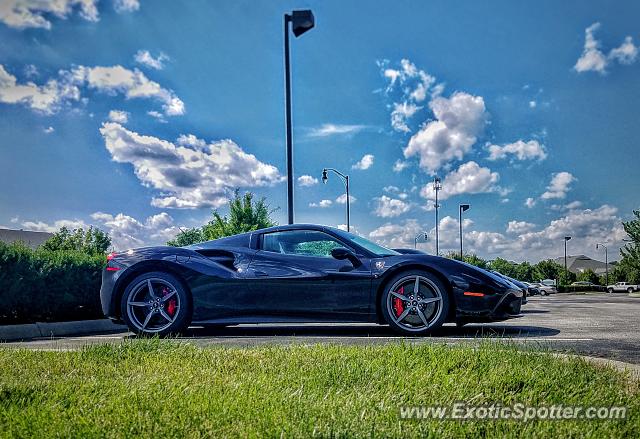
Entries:
POLYGON ((594 36, 595 31, 599 28, 600 23, 593 23, 584 31, 585 39, 582 55, 573 66, 578 73, 593 71, 603 75, 607 72, 607 67, 611 62, 629 65, 633 64, 638 57, 638 47, 633 43, 633 38, 630 36, 625 37, 619 47, 611 49, 609 54, 605 55, 601 50, 600 41, 594 36))

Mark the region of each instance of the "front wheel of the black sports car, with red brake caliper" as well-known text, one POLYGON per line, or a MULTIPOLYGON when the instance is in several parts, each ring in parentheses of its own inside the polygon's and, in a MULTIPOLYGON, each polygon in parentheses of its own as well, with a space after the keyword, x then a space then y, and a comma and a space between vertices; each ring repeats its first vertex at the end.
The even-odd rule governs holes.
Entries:
POLYGON ((437 330, 444 324, 449 315, 449 304, 449 293, 440 279, 427 271, 410 270, 398 273, 385 284, 384 291, 380 295, 379 306, 382 316, 394 331, 422 336, 437 330), (419 279, 417 300, 413 296, 416 278, 419 279), (404 293, 405 286, 409 284, 412 286, 411 292, 404 293), (400 297, 406 300, 397 297, 399 290, 392 292, 394 288, 401 288, 403 294, 400 297), (404 294, 407 295, 404 296, 404 294), (399 304, 402 304, 402 311, 395 306, 400 306, 399 304), (405 311, 407 314, 404 314, 405 311))

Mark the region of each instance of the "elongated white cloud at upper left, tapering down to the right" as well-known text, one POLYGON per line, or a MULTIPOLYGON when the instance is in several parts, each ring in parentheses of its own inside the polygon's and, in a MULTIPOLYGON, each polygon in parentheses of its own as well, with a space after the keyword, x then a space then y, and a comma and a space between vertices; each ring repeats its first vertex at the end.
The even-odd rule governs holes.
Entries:
POLYGON ((166 116, 178 116, 185 112, 184 102, 172 91, 151 81, 138 69, 129 70, 116 65, 111 67, 79 66, 71 71, 75 82, 86 83, 106 93, 122 93, 127 99, 152 98, 163 103, 166 116))

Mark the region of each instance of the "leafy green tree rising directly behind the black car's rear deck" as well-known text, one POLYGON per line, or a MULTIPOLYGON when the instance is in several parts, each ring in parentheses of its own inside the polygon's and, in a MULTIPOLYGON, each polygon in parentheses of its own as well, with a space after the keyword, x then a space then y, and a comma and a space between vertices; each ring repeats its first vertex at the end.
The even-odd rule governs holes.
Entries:
POLYGON ((222 216, 217 210, 212 212, 213 219, 201 228, 193 228, 181 231, 175 239, 167 242, 167 245, 181 247, 238 233, 251 232, 275 226, 271 219, 274 210, 270 210, 265 199, 253 200, 254 195, 246 192, 240 196, 236 189, 234 197, 229 200, 229 215, 222 216))

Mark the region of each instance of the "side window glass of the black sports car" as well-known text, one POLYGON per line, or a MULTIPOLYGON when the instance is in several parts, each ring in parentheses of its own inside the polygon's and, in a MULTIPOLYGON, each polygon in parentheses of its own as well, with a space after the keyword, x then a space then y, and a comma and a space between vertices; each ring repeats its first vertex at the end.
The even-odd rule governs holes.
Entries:
POLYGON ((331 257, 331 250, 344 245, 324 232, 288 230, 262 236, 262 250, 287 255, 331 257))

